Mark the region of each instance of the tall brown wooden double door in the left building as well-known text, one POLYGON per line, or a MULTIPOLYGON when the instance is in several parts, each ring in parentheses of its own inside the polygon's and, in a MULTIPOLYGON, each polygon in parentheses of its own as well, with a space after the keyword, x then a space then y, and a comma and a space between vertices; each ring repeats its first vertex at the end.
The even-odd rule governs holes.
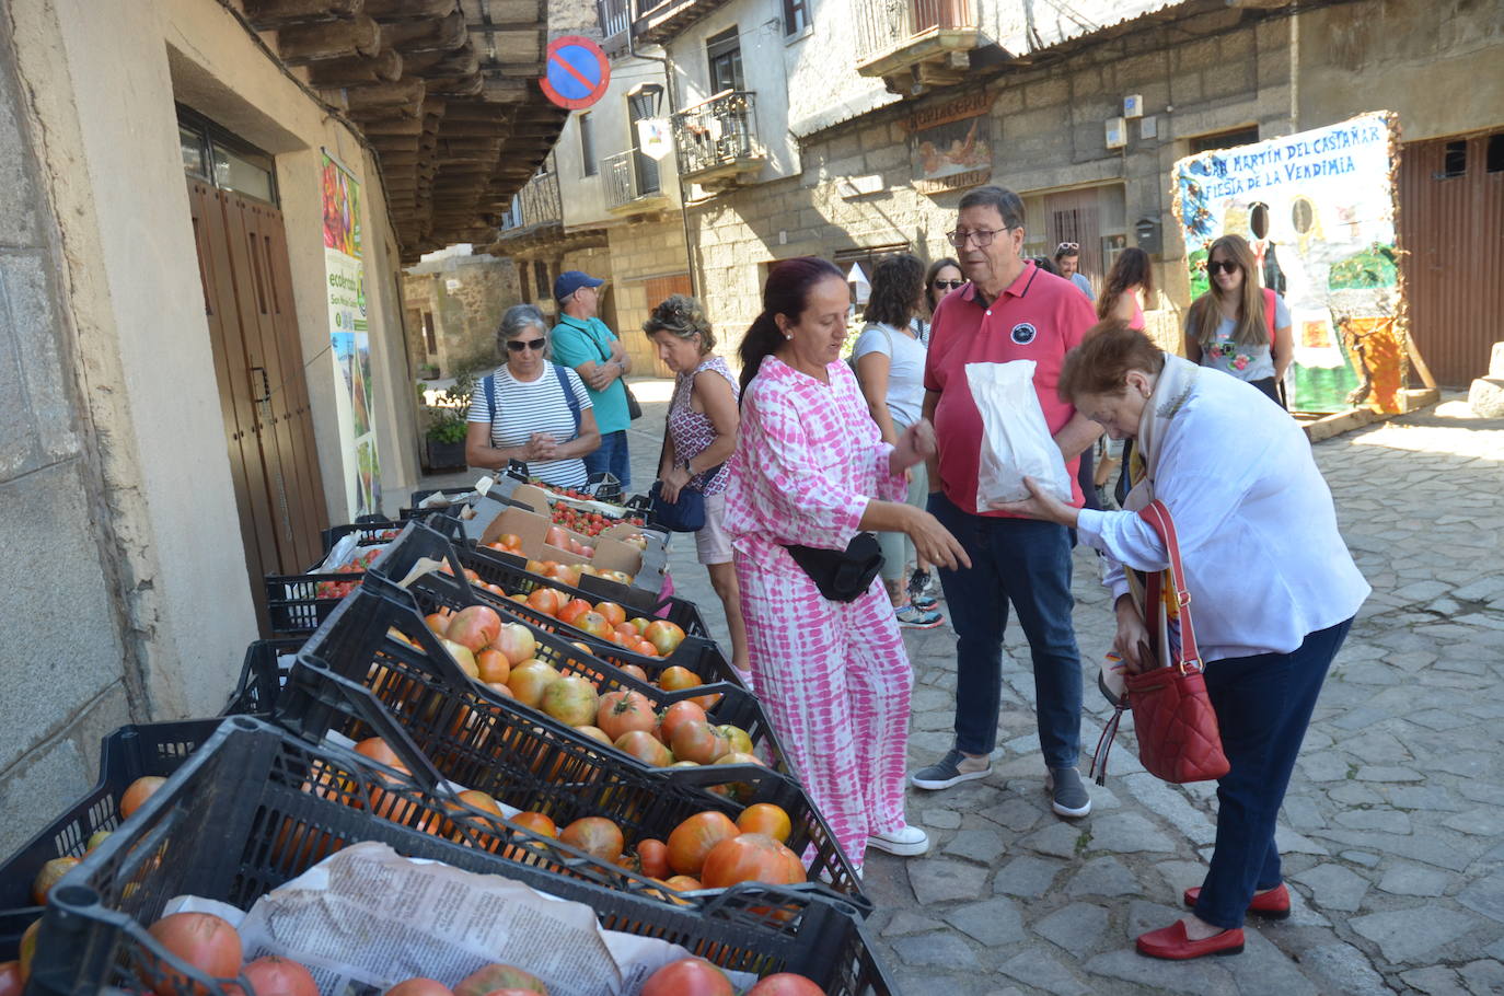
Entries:
POLYGON ((214 346, 245 564, 266 629, 268 573, 322 557, 328 525, 313 412, 277 208, 190 178, 199 274, 214 346))

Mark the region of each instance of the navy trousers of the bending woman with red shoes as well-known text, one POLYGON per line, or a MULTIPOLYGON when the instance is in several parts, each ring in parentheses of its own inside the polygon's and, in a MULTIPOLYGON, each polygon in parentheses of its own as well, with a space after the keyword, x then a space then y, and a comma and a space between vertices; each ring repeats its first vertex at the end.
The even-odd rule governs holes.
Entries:
POLYGON ((1206 665, 1206 694, 1232 764, 1217 782, 1217 849, 1196 901, 1196 915, 1208 924, 1241 927, 1253 894, 1280 885, 1274 823, 1327 668, 1349 626, 1351 618, 1308 633, 1293 653, 1206 665))

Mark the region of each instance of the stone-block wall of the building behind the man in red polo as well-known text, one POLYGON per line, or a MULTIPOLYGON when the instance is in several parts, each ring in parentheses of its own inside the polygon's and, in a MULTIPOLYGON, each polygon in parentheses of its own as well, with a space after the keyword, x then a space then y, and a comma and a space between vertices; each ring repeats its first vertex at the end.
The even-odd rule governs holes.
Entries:
MULTIPOLYGON (((1125 221, 1158 218, 1164 253, 1157 259, 1163 289, 1151 326, 1178 339, 1190 304, 1181 259, 1184 247, 1170 218, 1169 176, 1190 138, 1259 125, 1262 137, 1290 128, 1289 21, 1238 26, 1241 11, 1197 18, 1215 35, 1184 41, 1176 27, 1146 27, 1110 47, 1086 48, 1048 69, 1020 69, 985 84, 991 105, 991 181, 1020 194, 1122 184, 1125 221), (1122 113, 1122 98, 1140 93, 1158 137, 1130 126, 1126 149, 1107 149, 1104 120, 1122 113)), ((949 256, 945 232, 955 224, 961 191, 925 196, 914 190, 908 131, 916 107, 975 93, 954 87, 919 101, 884 107, 809 137, 797 179, 758 184, 687 209, 690 244, 713 320, 744 329, 761 308, 766 265, 799 254, 907 244, 923 259, 949 256), (881 190, 859 194, 841 181, 881 178, 881 190)), ((1038 224, 1038 223, 1036 223, 1038 224)), ((740 334, 722 342, 731 355, 740 334)))

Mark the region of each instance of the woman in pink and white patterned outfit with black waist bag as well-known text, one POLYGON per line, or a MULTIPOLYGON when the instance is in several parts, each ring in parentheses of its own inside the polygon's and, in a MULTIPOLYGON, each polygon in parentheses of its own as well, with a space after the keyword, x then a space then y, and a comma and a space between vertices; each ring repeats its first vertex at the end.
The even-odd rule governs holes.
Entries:
POLYGON ((928 512, 904 504, 904 471, 935 451, 920 420, 883 442, 856 376, 841 363, 851 304, 821 259, 778 263, 741 342, 741 429, 731 457, 726 530, 735 548, 752 686, 842 850, 922 855, 904 820, 913 673, 874 576, 853 602, 824 597, 787 545, 845 551, 859 533, 907 533, 920 558, 966 552, 928 512), (877 498, 874 498, 877 495, 877 498))

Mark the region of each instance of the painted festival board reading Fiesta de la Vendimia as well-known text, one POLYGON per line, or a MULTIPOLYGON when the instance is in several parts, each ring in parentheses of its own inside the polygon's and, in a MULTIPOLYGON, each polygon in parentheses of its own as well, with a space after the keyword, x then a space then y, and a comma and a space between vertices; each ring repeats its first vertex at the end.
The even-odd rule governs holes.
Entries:
POLYGON ((1175 164, 1191 296, 1208 290, 1211 242, 1241 235, 1263 286, 1290 310, 1292 411, 1399 411, 1406 352, 1394 251, 1397 147, 1394 116, 1376 111, 1175 164))

